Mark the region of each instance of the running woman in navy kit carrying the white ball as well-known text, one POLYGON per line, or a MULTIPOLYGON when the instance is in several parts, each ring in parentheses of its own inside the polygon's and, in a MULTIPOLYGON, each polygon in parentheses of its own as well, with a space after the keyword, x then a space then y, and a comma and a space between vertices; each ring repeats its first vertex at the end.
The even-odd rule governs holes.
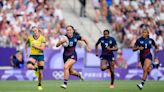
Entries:
POLYGON ((77 76, 81 80, 84 80, 83 76, 73 69, 73 65, 77 61, 77 54, 75 51, 77 41, 84 41, 87 46, 87 50, 88 51, 90 50, 88 41, 84 39, 83 37, 81 37, 79 34, 77 34, 73 26, 71 25, 67 26, 66 30, 67 30, 67 33, 66 33, 67 39, 60 40, 56 45, 57 47, 59 47, 60 45, 63 45, 65 42, 68 42, 68 46, 64 47, 64 53, 63 53, 64 84, 61 85, 61 88, 64 88, 64 89, 67 88, 67 83, 68 83, 68 79, 70 75, 77 76))

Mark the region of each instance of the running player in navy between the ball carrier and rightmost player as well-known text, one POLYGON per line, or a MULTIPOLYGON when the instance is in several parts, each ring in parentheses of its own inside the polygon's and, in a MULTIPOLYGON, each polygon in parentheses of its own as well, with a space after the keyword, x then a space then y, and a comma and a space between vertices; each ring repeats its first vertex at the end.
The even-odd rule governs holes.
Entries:
POLYGON ((114 51, 118 50, 116 40, 109 36, 109 30, 104 30, 103 37, 100 37, 95 45, 96 56, 98 56, 98 45, 101 43, 101 64, 100 68, 102 71, 109 69, 111 72, 111 83, 109 88, 114 88, 114 51))

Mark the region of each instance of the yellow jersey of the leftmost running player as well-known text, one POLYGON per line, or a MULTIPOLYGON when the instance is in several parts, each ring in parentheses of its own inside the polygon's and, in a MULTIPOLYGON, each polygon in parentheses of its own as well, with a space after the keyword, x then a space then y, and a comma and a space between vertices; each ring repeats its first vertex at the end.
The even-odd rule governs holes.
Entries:
POLYGON ((41 46, 42 43, 45 43, 44 36, 40 35, 38 39, 35 39, 32 35, 28 37, 28 43, 30 45, 30 55, 43 55, 43 51, 36 49, 32 46, 35 44, 36 46, 41 46))

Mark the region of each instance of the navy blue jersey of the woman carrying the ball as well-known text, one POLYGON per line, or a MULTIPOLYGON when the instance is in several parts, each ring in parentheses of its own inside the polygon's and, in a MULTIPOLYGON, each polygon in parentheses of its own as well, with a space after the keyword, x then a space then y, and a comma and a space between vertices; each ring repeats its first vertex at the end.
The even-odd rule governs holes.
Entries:
MULTIPOLYGON (((67 35, 66 35, 67 36, 67 35)), ((68 40, 69 40, 69 44, 67 47, 64 47, 64 56, 71 56, 72 54, 76 53, 75 52, 75 47, 77 44, 78 40, 81 40, 81 36, 80 35, 73 35, 72 38, 69 38, 67 36, 68 40)))

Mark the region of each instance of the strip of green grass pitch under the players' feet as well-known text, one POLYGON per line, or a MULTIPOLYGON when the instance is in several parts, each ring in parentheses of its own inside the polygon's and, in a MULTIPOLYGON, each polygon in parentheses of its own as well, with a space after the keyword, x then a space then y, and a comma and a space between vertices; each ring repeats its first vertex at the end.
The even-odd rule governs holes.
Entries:
MULTIPOLYGON (((44 81, 42 92, 140 92, 138 81, 116 81, 115 88, 108 88, 109 81, 69 81, 67 89, 59 86, 62 81, 44 81)), ((38 92, 35 81, 0 81, 0 92, 38 92)), ((142 92, 164 92, 164 81, 147 81, 142 92)))

